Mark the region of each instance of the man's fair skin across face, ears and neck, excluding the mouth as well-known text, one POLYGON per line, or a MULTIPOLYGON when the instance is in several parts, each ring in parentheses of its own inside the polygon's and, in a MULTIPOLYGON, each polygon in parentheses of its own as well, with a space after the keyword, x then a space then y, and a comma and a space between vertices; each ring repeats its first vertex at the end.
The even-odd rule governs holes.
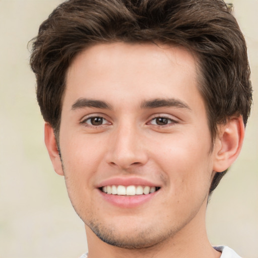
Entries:
POLYGON ((211 151, 196 57, 151 43, 97 44, 74 59, 63 96, 61 160, 45 125, 53 167, 85 223, 90 258, 219 257, 206 234, 207 198, 214 171, 232 164, 243 135, 241 117, 230 117, 211 151), (150 106, 155 99, 170 103, 150 106), (93 126, 92 117, 103 120, 93 126), (110 178, 145 179, 160 189, 136 207, 115 206, 98 188, 110 178))

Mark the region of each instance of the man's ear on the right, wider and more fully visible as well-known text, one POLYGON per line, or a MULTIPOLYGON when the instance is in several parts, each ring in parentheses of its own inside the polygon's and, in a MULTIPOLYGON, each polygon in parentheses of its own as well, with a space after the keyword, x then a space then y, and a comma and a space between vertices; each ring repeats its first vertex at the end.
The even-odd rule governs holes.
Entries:
POLYGON ((242 116, 231 117, 226 124, 219 126, 219 136, 215 143, 214 171, 222 172, 231 166, 241 151, 243 139, 242 116))

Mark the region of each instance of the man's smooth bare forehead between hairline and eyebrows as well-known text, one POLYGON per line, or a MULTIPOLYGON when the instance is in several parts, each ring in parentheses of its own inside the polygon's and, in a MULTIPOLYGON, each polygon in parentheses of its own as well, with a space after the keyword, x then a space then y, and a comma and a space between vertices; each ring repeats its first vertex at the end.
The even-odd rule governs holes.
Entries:
POLYGON ((197 90, 197 58, 183 47, 154 43, 96 44, 79 53, 67 73, 66 100, 185 98, 197 90))

